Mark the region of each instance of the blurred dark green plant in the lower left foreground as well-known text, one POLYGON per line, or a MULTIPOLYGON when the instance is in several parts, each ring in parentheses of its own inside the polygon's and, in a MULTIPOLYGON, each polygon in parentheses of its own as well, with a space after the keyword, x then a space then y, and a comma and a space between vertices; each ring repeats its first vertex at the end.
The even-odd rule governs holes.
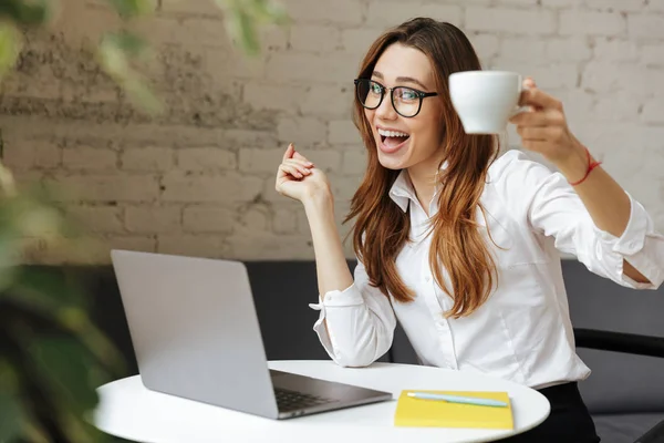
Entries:
POLYGON ((66 272, 22 265, 30 241, 76 241, 48 189, 0 165, 0 442, 95 442, 95 388, 122 368, 66 272))

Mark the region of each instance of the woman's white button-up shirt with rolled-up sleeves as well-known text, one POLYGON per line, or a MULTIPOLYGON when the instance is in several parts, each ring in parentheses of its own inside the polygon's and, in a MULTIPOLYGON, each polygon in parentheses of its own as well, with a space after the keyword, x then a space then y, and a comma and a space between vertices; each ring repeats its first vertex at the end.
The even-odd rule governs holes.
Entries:
MULTIPOLYGON (((390 196, 404 212, 409 209, 412 241, 398 254, 396 267, 415 300, 385 297, 369 285, 359 262, 351 287, 311 305, 321 311, 314 330, 341 365, 367 365, 382 357, 398 320, 422 364, 476 371, 531 388, 582 380, 590 370, 575 353, 560 253, 630 288, 656 289, 664 279, 664 237, 655 233, 641 204, 630 196, 627 227, 620 238, 612 236, 595 227, 561 174, 509 151, 489 167, 481 195, 487 217, 479 210, 477 217, 499 246, 481 229, 496 257, 498 287, 470 316, 445 318, 453 299, 433 278, 428 217, 406 174, 401 173, 390 196), (623 259, 651 282, 625 276, 623 259)), ((436 212, 434 196, 429 214, 436 212)))

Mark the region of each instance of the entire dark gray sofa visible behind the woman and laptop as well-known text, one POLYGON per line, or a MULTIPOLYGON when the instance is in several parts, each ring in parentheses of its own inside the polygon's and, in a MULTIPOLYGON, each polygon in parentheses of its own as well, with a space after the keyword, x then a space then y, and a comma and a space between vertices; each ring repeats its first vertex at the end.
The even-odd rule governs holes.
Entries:
MULTIPOLYGON (((318 312, 308 307, 318 297, 314 264, 246 265, 268 359, 328 359, 311 329, 318 312)), ((354 268, 354 262, 349 265, 354 268)), ((90 293, 96 295, 95 320, 125 354, 126 374, 137 373, 113 270, 76 271, 83 272, 90 293)), ((563 272, 578 352, 593 371, 580 389, 602 442, 664 442, 664 288, 626 289, 573 260, 563 260, 563 272)), ((381 360, 416 363, 401 329, 381 360)))

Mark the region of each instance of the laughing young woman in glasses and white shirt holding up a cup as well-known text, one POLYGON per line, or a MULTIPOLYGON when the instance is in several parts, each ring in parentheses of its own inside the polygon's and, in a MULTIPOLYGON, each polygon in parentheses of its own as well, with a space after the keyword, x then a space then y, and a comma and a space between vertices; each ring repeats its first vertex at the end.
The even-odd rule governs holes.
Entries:
POLYGON ((529 79, 515 116, 522 153, 467 135, 447 91, 479 70, 461 31, 414 19, 380 37, 355 80, 367 151, 349 271, 325 175, 292 145, 277 190, 302 202, 318 269, 314 329, 339 364, 363 367, 391 347, 398 320, 423 364, 479 371, 540 390, 550 418, 520 439, 596 442, 577 381, 559 251, 632 288, 664 279, 664 237, 568 130, 562 105, 529 79))

